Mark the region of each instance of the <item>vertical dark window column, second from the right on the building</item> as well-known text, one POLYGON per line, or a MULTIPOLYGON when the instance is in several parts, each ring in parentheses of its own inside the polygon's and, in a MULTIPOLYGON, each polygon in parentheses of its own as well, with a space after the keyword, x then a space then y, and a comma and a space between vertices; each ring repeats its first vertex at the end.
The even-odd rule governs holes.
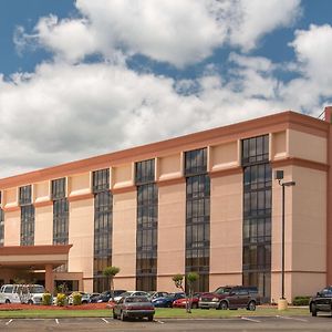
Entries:
POLYGON ((186 176, 186 273, 197 272, 195 291, 209 291, 210 178, 207 148, 187 152, 186 176))

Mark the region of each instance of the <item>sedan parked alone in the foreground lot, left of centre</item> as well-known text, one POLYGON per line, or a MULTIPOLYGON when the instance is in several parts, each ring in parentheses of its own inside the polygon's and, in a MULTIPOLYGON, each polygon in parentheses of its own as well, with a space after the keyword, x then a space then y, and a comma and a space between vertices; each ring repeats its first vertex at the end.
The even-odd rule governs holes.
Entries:
POLYGON ((147 297, 126 297, 120 299, 120 301, 113 308, 113 319, 120 318, 125 321, 127 318, 147 318, 148 321, 153 321, 155 314, 155 308, 147 297))

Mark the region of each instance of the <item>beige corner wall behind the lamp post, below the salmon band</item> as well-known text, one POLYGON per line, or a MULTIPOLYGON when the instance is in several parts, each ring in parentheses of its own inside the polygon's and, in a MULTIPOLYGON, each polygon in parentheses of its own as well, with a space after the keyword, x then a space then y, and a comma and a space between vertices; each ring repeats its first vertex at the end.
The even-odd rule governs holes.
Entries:
MULTIPOLYGON (((325 286, 326 272, 326 174, 298 166, 288 166, 286 187, 286 298, 314 293, 325 286), (303 277, 303 279, 301 279, 303 277), (301 280, 301 282, 299 282, 301 280)), ((281 295, 281 186, 272 188, 272 278, 271 298, 281 295)))

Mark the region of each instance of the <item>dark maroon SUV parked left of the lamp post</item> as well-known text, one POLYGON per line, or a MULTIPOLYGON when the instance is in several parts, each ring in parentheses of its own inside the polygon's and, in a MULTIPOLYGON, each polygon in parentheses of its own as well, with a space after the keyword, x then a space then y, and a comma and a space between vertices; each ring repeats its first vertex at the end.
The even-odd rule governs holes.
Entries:
POLYGON ((201 309, 238 309, 256 310, 260 304, 260 297, 257 287, 226 286, 219 287, 211 293, 203 293, 198 307, 201 309))

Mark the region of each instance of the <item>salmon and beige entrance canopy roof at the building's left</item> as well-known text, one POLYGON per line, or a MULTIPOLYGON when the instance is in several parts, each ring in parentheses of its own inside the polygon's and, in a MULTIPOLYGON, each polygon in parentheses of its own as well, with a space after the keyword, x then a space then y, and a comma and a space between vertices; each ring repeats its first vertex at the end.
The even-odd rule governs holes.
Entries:
POLYGON ((52 266, 52 269, 55 269, 68 262, 68 255, 72 246, 0 247, 0 267, 44 270, 45 266, 52 266))

